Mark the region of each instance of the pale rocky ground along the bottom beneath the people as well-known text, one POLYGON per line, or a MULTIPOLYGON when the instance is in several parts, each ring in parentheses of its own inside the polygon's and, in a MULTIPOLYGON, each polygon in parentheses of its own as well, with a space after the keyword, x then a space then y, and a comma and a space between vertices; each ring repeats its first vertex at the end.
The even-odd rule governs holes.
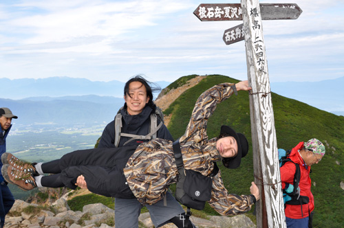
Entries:
MULTIPOLYGON (((256 227, 250 218, 244 215, 209 216, 209 219, 191 216, 191 220, 198 228, 256 227)), ((107 228, 116 227, 115 223, 114 209, 95 203, 85 205, 83 212, 74 212, 69 209, 65 197, 61 197, 50 207, 17 200, 6 216, 4 228, 107 228)), ((139 223, 140 228, 153 228, 149 213, 141 214, 139 223)), ((175 227, 170 223, 162 228, 175 227)))

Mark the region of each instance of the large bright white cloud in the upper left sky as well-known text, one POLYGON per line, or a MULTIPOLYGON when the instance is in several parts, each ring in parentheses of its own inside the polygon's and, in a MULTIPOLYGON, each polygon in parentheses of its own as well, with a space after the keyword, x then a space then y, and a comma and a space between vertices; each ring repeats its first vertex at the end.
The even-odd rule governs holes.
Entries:
POLYGON ((25 1, 19 4, 20 8, 38 8, 39 12, 11 19, 8 25, 23 33, 30 30, 30 36, 23 38, 25 44, 65 42, 88 36, 114 38, 139 27, 156 25, 154 20, 159 16, 184 7, 181 3, 168 3, 166 7, 166 1, 69 2, 25 1))

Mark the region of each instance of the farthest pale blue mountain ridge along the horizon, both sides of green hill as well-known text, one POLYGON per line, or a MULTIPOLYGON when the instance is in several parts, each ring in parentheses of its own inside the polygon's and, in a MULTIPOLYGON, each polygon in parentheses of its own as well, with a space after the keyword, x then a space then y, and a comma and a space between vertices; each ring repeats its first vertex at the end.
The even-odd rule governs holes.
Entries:
MULTIPOLYGON (((158 81, 161 89, 171 82, 158 81)), ((23 78, 10 80, 0 78, 2 85, 1 98, 21 100, 36 97, 66 98, 68 96, 98 95, 123 98, 125 82, 112 80, 109 82, 91 81, 85 78, 51 77, 23 78)), ((271 91, 310 104, 317 109, 336 115, 344 115, 344 77, 320 82, 270 82, 271 91)), ((158 93, 153 93, 154 99, 158 93)), ((41 99, 41 98, 36 98, 41 99)))

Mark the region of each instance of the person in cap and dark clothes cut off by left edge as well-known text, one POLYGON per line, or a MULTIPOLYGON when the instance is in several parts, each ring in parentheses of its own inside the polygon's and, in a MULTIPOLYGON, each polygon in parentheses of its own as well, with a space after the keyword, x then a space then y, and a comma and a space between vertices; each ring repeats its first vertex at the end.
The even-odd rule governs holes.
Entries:
MULTIPOLYGON (((6 152, 6 137, 12 128, 12 119, 17 119, 17 115, 13 115, 8 108, 0 108, 0 156, 6 152)), ((2 168, 2 163, 0 163, 2 168)), ((5 216, 14 204, 14 197, 7 186, 7 182, 0 174, 0 227, 5 223, 5 216)))

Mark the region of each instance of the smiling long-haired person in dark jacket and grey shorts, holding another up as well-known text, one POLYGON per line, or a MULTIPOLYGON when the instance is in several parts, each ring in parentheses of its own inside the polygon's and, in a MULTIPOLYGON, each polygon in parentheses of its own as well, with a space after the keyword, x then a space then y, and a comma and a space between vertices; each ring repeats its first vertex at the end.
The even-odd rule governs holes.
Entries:
MULTIPOLYGON (((157 118, 155 124, 157 127, 162 122, 159 115, 155 114, 155 109, 158 108, 153 102, 153 91, 157 90, 160 90, 160 88, 155 87, 153 83, 148 82, 141 76, 135 76, 128 80, 124 89, 125 105, 120 109, 120 123, 116 122, 116 115, 114 121, 107 124, 100 137, 98 148, 138 146, 143 142, 149 141, 150 138, 131 140, 132 138, 129 135, 148 135, 149 129, 153 125, 151 115, 155 115, 155 118, 157 118), (116 123, 121 127, 116 127, 116 123), (115 129, 120 129, 120 133, 117 133, 115 129), (116 145, 116 137, 119 136, 118 145, 116 145)), ((163 123, 161 124, 158 131, 154 134, 155 137, 173 141, 169 130, 163 123)), ((78 184, 80 185, 80 183, 78 184)), ((130 193, 130 196, 133 195, 130 193)), ((143 205, 135 197, 116 197, 116 228, 138 228, 138 216, 140 216, 142 207, 143 205)), ((170 192, 166 194, 165 202, 162 200, 154 205, 147 205, 147 209, 155 227, 160 227, 169 222, 178 225, 184 217, 184 209, 182 209, 170 192)))

